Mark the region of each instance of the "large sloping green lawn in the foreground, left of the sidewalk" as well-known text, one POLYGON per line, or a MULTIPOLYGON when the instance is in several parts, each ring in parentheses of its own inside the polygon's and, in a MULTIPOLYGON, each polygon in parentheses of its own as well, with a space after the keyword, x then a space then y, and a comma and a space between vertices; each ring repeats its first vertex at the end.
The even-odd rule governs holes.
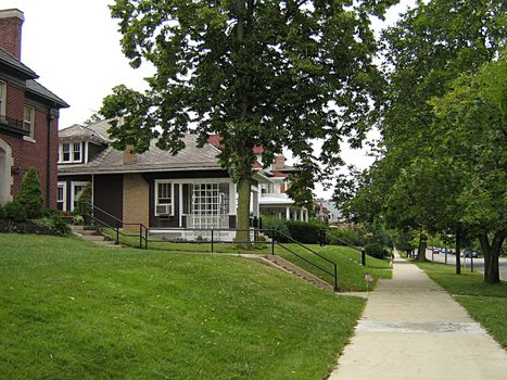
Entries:
POLYGON ((0 246, 1 379, 322 379, 365 305, 240 257, 0 246))

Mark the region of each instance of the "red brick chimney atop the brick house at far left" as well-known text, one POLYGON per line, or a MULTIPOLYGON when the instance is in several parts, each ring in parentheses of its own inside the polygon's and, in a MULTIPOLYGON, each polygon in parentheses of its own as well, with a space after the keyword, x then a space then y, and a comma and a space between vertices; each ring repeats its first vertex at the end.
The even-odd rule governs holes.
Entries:
POLYGON ((0 10, 0 48, 21 61, 21 27, 25 17, 17 9, 0 10))

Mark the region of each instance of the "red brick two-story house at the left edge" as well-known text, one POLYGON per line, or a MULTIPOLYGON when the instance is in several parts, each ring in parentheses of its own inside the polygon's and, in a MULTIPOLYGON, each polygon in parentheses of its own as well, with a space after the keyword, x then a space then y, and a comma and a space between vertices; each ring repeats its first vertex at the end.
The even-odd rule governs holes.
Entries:
POLYGON ((45 206, 55 207, 59 110, 68 104, 21 62, 23 21, 20 10, 0 10, 0 204, 17 195, 35 167, 45 206))

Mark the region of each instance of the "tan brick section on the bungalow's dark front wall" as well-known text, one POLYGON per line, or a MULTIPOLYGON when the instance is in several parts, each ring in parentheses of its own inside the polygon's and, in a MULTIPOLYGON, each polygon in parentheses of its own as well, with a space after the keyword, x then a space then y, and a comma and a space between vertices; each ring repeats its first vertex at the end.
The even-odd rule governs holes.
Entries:
MULTIPOLYGON (((124 175, 123 219, 149 226, 150 187, 140 174, 124 175)), ((125 226, 127 228, 128 226, 125 226)), ((132 228, 132 227, 130 227, 132 228)), ((137 228, 137 227, 134 227, 137 228)))

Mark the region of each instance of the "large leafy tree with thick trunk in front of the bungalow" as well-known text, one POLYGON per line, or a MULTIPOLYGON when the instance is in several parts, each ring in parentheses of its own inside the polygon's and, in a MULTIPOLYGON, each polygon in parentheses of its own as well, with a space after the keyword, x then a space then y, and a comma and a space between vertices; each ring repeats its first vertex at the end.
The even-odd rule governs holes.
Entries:
POLYGON ((123 121, 110 129, 116 148, 143 152, 155 138, 177 153, 188 131, 201 144, 219 135, 219 162, 238 185, 238 228, 248 228, 254 145, 266 163, 292 151, 312 185, 313 139, 325 140, 319 159, 332 167, 341 139, 363 138, 379 79, 369 16, 394 2, 116 0, 124 53, 156 71, 144 93, 118 86, 104 99, 101 113, 123 121))

